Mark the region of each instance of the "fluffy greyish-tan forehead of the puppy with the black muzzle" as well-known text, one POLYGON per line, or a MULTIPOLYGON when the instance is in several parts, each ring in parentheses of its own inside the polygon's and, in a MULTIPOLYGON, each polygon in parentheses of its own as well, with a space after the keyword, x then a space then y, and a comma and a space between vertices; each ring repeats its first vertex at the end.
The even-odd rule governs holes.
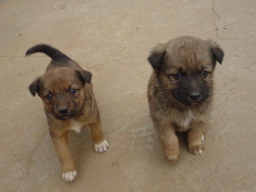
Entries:
POLYGON ((212 55, 207 41, 197 38, 174 39, 166 44, 166 70, 212 71, 212 55))

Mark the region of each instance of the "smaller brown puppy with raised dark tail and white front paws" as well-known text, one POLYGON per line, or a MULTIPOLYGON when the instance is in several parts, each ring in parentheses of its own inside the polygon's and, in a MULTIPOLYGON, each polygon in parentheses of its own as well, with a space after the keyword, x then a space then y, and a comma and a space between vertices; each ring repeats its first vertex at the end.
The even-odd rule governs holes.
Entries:
POLYGON ((47 54, 52 61, 44 75, 30 84, 29 91, 33 96, 37 93, 44 103, 50 135, 62 166, 62 177, 72 181, 76 177, 76 168, 68 150, 68 131, 80 132, 89 125, 95 151, 102 153, 108 148, 92 90, 92 74, 48 45, 36 45, 26 52, 26 56, 35 52, 47 54))

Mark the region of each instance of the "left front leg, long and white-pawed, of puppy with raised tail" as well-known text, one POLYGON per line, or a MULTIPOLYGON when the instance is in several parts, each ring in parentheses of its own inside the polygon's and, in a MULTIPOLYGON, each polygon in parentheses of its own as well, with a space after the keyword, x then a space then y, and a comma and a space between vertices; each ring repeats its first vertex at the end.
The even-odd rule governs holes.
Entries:
POLYGON ((67 182, 74 180, 76 177, 76 168, 74 159, 68 150, 68 132, 57 137, 52 131, 50 131, 50 135, 60 159, 63 179, 67 182))

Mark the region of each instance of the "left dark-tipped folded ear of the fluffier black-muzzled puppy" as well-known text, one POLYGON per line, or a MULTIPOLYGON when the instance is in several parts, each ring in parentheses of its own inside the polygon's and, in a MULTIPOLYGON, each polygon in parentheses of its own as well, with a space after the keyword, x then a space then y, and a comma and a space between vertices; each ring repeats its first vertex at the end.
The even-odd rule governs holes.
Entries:
POLYGON ((165 53, 164 44, 158 44, 151 50, 150 56, 148 57, 148 62, 151 64, 153 69, 158 68, 164 58, 165 53))

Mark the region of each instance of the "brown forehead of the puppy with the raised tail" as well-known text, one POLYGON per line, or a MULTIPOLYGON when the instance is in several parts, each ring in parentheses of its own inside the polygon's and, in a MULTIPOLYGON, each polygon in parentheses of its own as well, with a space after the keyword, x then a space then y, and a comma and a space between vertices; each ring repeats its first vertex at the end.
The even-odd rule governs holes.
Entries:
POLYGON ((75 86, 72 88, 76 89, 82 86, 79 76, 72 68, 53 68, 42 77, 45 89, 51 92, 62 92, 70 89, 72 86, 75 86))

